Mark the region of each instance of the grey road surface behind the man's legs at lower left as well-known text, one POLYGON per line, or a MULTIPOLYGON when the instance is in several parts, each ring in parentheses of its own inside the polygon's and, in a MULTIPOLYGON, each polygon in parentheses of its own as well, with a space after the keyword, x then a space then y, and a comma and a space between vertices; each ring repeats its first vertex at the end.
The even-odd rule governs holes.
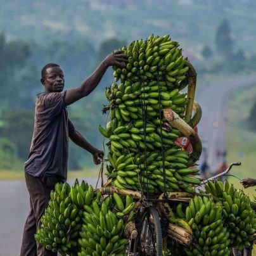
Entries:
MULTIPOLYGON (((86 180, 96 186, 97 179, 86 180)), ((68 183, 73 184, 74 180, 68 183)), ((25 181, 0 181, 0 256, 19 255, 27 214, 29 193, 25 181)))

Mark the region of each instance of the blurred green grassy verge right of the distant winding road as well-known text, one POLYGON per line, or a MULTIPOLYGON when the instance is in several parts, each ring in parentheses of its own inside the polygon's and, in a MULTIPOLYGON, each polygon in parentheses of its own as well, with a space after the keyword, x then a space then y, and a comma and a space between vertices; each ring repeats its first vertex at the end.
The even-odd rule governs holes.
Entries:
MULTIPOLYGON (((242 179, 245 177, 256 178, 256 132, 246 129, 246 119, 250 113, 256 89, 238 89, 233 92, 227 106, 227 162, 241 162, 240 167, 233 167, 231 173, 242 179)), ((236 188, 242 188, 240 181, 230 178, 236 188)), ((256 195, 254 188, 245 189, 245 193, 252 198, 256 195)))

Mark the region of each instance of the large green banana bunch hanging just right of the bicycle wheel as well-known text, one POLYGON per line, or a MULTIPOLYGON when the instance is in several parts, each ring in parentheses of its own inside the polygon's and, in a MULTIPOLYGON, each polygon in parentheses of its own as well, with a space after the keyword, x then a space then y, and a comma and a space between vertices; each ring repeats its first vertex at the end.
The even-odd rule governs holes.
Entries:
POLYGON ((193 248, 184 248, 184 253, 188 256, 229 255, 229 231, 224 227, 222 203, 214 203, 212 197, 195 196, 185 211, 182 207, 182 203, 177 205, 176 216, 188 222, 193 230, 193 248))

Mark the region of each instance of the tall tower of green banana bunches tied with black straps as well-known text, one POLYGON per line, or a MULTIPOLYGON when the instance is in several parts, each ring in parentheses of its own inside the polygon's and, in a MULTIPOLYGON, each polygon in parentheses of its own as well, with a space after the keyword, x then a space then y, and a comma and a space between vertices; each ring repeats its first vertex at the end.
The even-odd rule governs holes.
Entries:
POLYGON ((129 56, 125 68, 113 67, 116 82, 105 90, 110 122, 105 128, 99 125, 99 131, 110 139, 106 143, 107 170, 117 188, 146 187, 150 193, 162 192, 163 168, 167 191, 191 193, 190 184, 200 183, 200 179, 191 177, 198 169, 188 169, 188 153, 174 145, 181 132, 170 127, 162 113, 163 108, 170 107, 184 117, 188 102, 186 93, 181 93, 188 85, 188 60, 178 46, 169 35, 150 35, 144 42, 134 41, 122 48, 129 56))

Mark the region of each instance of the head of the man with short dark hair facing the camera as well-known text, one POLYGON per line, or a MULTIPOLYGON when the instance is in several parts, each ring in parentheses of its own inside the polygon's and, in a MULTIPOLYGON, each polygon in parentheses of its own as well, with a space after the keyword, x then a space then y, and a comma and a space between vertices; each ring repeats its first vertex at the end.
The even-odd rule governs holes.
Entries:
POLYGON ((64 88, 64 75, 58 64, 48 63, 42 68, 41 83, 44 91, 48 93, 60 93, 64 88))

